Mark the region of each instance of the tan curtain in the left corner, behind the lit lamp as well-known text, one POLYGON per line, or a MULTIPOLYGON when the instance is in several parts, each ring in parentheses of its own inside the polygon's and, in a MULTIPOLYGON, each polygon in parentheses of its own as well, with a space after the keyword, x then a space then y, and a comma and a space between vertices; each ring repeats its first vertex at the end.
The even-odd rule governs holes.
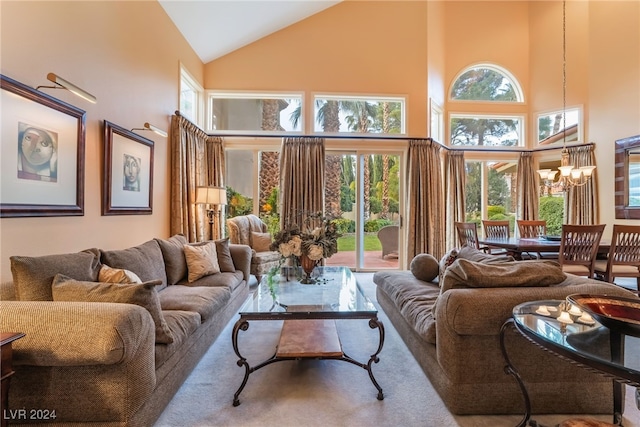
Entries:
POLYGON ((170 232, 182 233, 190 242, 207 240, 209 219, 205 206, 195 204, 196 188, 223 186, 223 141, 176 114, 171 117, 170 143, 170 232))

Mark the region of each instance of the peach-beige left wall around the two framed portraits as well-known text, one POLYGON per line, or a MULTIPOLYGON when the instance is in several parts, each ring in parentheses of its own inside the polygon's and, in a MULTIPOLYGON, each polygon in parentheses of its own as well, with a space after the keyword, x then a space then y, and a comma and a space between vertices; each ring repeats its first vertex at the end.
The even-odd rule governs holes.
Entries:
POLYGON ((155 1, 2 1, 0 7, 3 75, 36 87, 54 72, 98 98, 94 105, 43 89, 87 112, 85 214, 1 219, 1 280, 11 279, 11 255, 120 249, 167 236, 168 140, 142 133, 155 141, 153 214, 101 216, 102 122, 131 129, 148 121, 168 130, 178 109, 179 64, 202 81, 202 62, 155 1))

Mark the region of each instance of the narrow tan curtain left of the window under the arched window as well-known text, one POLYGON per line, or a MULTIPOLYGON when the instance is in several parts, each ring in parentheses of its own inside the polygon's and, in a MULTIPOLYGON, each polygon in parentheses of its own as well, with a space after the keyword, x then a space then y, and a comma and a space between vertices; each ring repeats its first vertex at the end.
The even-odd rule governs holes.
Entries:
POLYGON ((454 223, 465 220, 465 185, 464 151, 447 150, 444 155, 444 181, 446 197, 446 236, 445 247, 458 245, 458 235, 454 223))

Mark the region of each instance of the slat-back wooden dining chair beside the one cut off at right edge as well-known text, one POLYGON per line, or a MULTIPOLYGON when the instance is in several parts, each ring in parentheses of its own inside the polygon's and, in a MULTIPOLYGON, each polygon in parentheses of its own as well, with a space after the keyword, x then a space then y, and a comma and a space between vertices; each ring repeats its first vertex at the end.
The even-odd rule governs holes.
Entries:
POLYGON ((562 225, 558 261, 565 273, 593 278, 604 224, 562 225))

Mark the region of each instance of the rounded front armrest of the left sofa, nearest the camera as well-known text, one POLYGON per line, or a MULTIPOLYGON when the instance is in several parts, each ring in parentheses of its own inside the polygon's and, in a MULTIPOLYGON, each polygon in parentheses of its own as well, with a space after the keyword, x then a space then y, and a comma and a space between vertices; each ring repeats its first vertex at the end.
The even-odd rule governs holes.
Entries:
POLYGON ((23 332, 14 343, 14 363, 32 366, 93 366, 154 361, 151 315, 133 304, 2 301, 0 330, 23 332))

